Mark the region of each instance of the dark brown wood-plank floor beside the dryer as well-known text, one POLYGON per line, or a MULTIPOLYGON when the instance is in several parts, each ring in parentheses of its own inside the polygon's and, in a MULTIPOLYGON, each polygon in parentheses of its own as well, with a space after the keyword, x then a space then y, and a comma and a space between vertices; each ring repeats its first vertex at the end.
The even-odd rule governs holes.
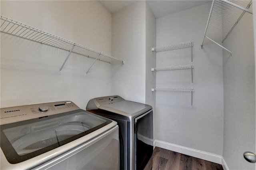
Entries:
POLYGON ((220 164, 158 147, 151 160, 144 170, 223 170, 220 164))

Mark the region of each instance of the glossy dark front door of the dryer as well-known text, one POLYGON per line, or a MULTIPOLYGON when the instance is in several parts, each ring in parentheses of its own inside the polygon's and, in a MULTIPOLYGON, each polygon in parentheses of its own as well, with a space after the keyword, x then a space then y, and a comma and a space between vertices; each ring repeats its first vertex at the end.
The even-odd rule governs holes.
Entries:
POLYGON ((135 118, 134 162, 135 169, 144 169, 153 154, 153 111, 135 118))

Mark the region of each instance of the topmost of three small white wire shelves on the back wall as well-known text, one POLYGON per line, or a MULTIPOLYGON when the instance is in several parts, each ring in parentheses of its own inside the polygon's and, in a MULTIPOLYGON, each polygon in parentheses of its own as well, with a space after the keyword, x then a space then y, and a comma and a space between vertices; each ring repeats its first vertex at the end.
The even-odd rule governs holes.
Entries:
POLYGON ((182 42, 182 43, 176 43, 176 44, 171 44, 171 45, 153 47, 152 51, 156 51, 156 52, 170 51, 170 50, 175 50, 175 49, 193 47, 193 45, 194 45, 194 41, 182 42))

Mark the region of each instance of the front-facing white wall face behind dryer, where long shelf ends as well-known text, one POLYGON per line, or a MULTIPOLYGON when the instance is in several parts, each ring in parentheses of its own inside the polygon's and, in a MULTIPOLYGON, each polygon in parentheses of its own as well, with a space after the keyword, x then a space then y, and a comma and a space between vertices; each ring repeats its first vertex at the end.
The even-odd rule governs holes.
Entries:
POLYGON ((145 103, 146 2, 138 1, 112 14, 112 54, 125 60, 112 66, 112 92, 145 103))

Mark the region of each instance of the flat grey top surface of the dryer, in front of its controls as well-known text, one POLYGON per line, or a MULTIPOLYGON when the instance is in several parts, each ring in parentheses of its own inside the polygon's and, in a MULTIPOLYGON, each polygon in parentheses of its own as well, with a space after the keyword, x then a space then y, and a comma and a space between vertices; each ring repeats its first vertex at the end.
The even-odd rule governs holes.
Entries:
POLYGON ((143 113, 146 113, 147 111, 152 109, 152 107, 143 103, 125 100, 116 103, 101 105, 99 109, 112 112, 112 115, 108 115, 110 117, 119 118, 118 115, 122 115, 122 119, 125 119, 127 121, 134 121, 136 117, 142 115, 143 113))

